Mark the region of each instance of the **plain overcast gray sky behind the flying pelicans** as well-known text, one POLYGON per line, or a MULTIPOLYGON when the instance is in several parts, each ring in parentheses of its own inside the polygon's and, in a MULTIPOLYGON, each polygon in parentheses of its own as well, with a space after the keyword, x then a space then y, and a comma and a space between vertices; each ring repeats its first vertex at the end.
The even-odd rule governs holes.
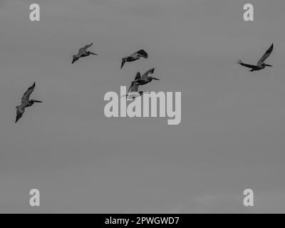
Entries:
POLYGON ((251 0, 254 22, 246 3, 0 0, 0 212, 285 212, 285 1, 251 0), (91 41, 99 56, 71 65, 91 41), (273 68, 235 63, 271 42, 273 68), (120 70, 140 48, 149 58, 120 70), (105 93, 152 67, 160 81, 143 90, 181 91, 180 125, 105 118, 105 93), (14 124, 33 81, 44 102, 14 124))

